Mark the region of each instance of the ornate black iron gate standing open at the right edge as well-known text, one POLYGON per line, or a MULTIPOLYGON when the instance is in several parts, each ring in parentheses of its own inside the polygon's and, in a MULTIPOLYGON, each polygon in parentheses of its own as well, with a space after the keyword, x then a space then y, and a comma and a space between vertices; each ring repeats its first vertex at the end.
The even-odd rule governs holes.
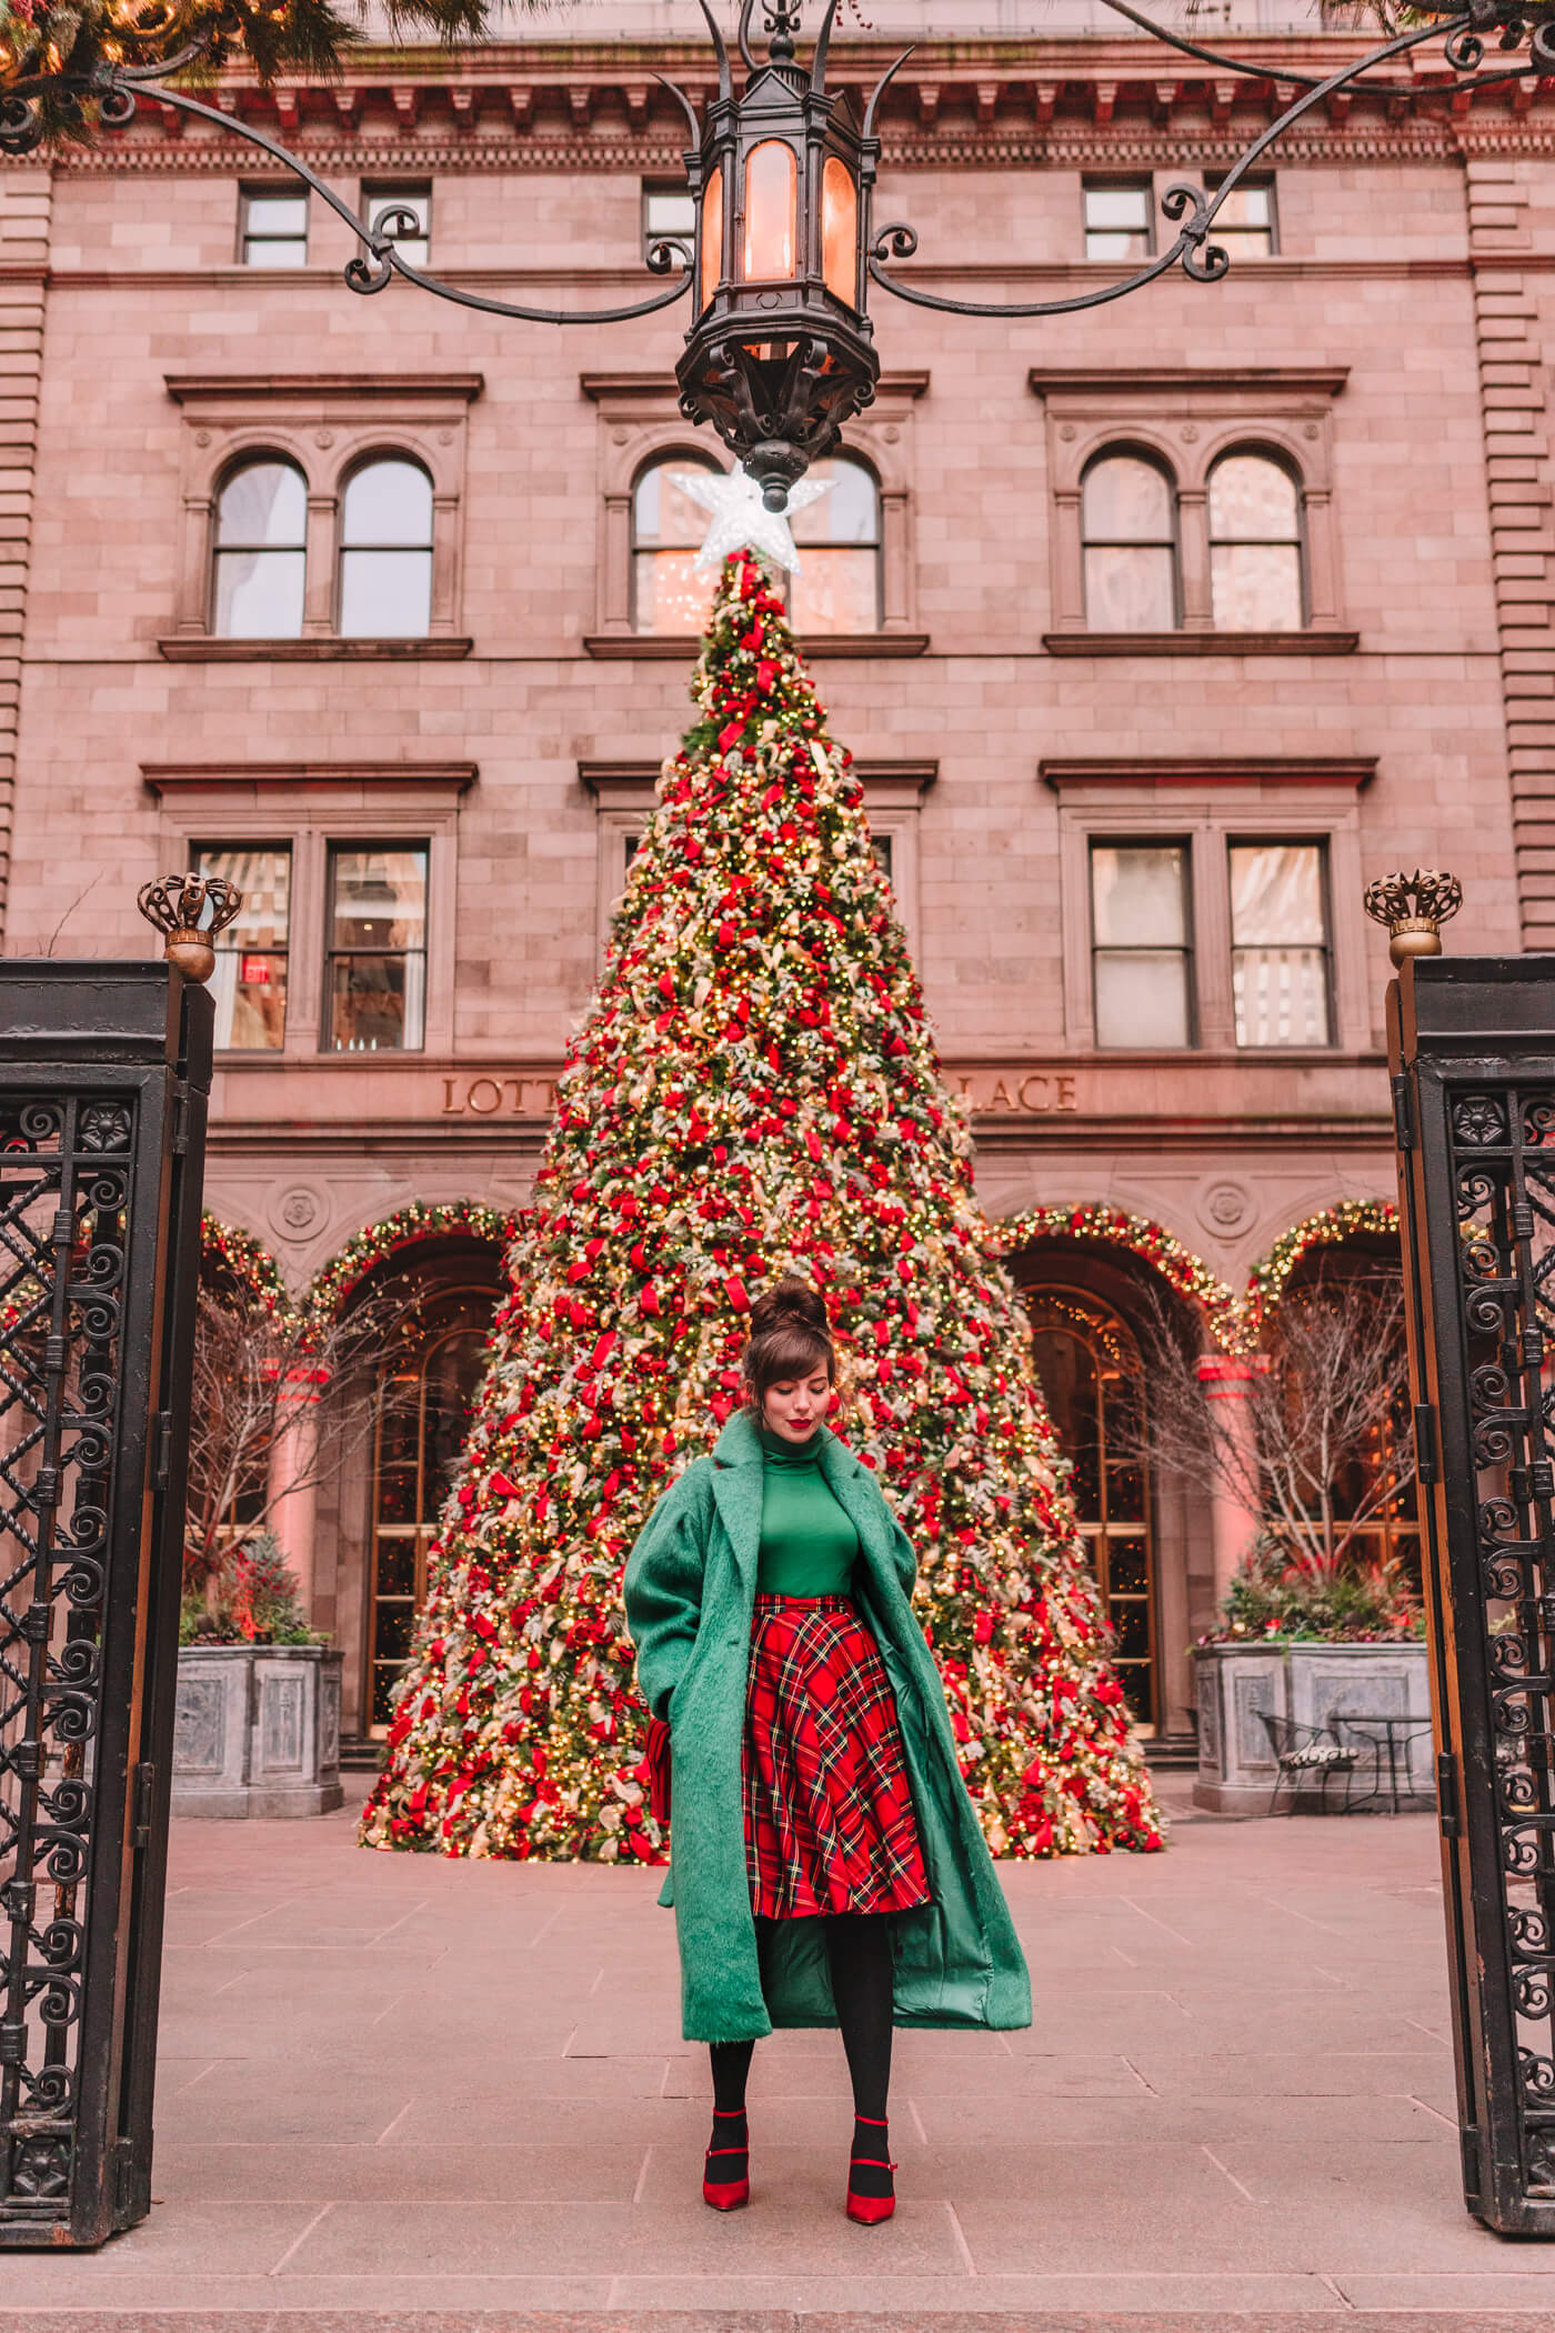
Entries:
POLYGON ((1555 961, 1387 1015, 1464 2195, 1555 2235, 1555 961))

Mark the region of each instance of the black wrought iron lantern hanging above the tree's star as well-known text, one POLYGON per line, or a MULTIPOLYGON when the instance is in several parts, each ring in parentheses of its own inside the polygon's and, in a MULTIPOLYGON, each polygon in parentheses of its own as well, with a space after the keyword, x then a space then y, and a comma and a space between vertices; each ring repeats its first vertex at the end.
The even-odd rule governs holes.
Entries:
POLYGON ((874 399, 879 357, 865 313, 879 161, 872 121, 898 68, 877 86, 860 126, 849 98, 825 89, 837 0, 809 70, 795 63, 800 12, 783 5, 767 14, 769 54, 758 63, 753 5, 746 0, 739 21, 751 79, 737 98, 730 54, 702 0, 718 96, 685 156, 697 198, 697 320, 676 380, 685 418, 711 422, 762 488, 767 509, 781 511, 795 478, 874 399))

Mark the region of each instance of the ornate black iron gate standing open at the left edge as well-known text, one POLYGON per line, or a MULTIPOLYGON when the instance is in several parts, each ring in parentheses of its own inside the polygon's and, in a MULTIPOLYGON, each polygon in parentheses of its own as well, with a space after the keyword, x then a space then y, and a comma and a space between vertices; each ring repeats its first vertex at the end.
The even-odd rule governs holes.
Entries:
POLYGON ((0 964, 0 2244, 152 2202, 212 1008, 0 964))

